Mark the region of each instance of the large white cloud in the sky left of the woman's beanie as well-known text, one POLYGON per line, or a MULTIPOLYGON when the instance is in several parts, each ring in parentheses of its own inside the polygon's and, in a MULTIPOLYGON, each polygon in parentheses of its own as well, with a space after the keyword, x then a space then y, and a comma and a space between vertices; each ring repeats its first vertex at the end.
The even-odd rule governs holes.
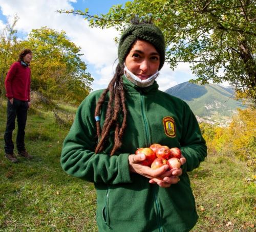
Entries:
POLYGON ((79 47, 84 54, 83 60, 100 68, 110 65, 117 57, 117 46, 114 37, 118 32, 114 29, 91 28, 80 15, 59 14, 60 9, 73 9, 70 2, 65 0, 15 1, 0 0, 1 10, 8 21, 17 14, 19 20, 16 29, 29 33, 32 29, 47 26, 57 31, 65 31, 67 36, 79 47))

